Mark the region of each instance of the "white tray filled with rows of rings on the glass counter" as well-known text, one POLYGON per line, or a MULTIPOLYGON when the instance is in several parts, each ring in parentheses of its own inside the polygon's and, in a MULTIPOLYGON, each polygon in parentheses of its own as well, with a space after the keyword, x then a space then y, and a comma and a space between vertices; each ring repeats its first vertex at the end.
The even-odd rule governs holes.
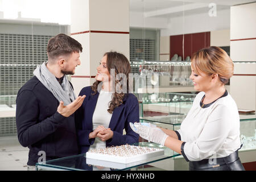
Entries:
POLYGON ((87 159, 105 160, 123 164, 133 163, 139 160, 150 159, 162 155, 164 155, 163 149, 132 146, 129 144, 89 150, 86 152, 87 159))

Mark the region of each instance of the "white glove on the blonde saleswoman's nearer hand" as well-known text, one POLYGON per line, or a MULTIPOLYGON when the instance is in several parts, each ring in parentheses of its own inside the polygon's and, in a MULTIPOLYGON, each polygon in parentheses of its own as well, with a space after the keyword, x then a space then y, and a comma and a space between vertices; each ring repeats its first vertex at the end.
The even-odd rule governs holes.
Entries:
POLYGON ((164 142, 166 142, 166 139, 168 137, 168 135, 165 134, 158 127, 139 125, 137 126, 137 129, 137 133, 139 134, 139 136, 150 142, 159 143, 162 146, 164 146, 164 142))

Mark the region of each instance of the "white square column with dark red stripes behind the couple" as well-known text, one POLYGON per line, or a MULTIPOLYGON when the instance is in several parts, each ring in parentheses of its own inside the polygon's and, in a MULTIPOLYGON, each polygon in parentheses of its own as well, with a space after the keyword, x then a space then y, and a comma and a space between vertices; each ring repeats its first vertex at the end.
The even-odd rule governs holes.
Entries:
POLYGON ((82 44, 81 65, 72 76, 78 95, 95 81, 96 68, 105 52, 129 55, 129 0, 72 0, 71 36, 82 44))

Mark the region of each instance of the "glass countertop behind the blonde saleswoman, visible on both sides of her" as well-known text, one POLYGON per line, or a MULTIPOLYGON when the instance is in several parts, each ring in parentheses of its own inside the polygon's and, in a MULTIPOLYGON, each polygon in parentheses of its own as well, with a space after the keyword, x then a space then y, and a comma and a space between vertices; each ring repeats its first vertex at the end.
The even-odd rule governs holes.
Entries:
MULTIPOLYGON (((255 113, 249 114, 240 114, 240 121, 251 121, 256 120, 255 113)), ((158 122, 169 125, 180 125, 181 122, 185 119, 185 114, 177 114, 177 115, 158 115, 153 117, 140 117, 139 119, 143 122, 158 122)))

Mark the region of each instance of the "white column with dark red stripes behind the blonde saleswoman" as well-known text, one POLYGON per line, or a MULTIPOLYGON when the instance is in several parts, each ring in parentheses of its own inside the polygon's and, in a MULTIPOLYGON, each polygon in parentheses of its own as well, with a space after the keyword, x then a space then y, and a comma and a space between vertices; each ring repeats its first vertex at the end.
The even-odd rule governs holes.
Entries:
MULTIPOLYGON (((230 11, 230 57, 233 61, 256 61, 256 3, 232 6, 230 11)), ((230 94, 238 109, 256 109, 256 64, 234 64, 230 94)))

